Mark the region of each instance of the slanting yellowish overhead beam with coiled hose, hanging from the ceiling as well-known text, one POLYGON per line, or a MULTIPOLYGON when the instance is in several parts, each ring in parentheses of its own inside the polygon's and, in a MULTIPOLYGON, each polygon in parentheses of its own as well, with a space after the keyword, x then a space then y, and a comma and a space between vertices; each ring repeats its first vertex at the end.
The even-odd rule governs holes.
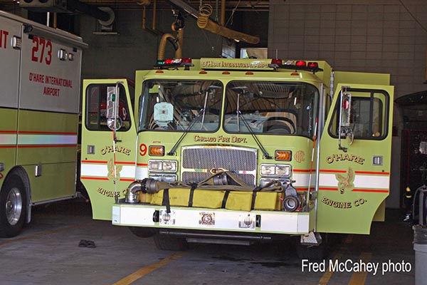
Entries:
POLYGON ((258 36, 250 36, 246 33, 241 33, 238 31, 233 31, 230 28, 226 28, 225 26, 221 26, 217 24, 215 21, 209 19, 209 16, 212 14, 212 6, 209 4, 205 4, 201 6, 200 12, 194 9, 190 4, 182 1, 182 0, 169 0, 179 8, 184 9, 187 13, 194 16, 197 19, 197 26, 199 28, 203 28, 206 31, 210 31, 211 33, 216 33, 220 36, 224 36, 226 38, 231 38, 235 41, 244 41, 246 43, 259 43, 260 38, 258 36))

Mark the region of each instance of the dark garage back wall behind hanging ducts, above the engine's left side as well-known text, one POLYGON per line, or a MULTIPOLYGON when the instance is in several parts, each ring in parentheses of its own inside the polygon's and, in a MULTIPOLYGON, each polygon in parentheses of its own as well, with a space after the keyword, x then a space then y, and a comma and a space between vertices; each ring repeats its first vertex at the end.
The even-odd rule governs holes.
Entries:
MULTIPOLYGON (((157 60, 162 33, 155 34, 142 28, 142 10, 115 11, 115 31, 118 34, 100 34, 97 20, 80 15, 80 36, 89 48, 83 52, 82 78, 135 78, 135 71, 151 69, 157 60)), ((156 29, 171 33, 174 22, 172 11, 158 11, 156 29)), ((152 11, 147 11, 146 28, 152 28, 152 11)), ((188 17, 184 27, 182 56, 200 58, 220 57, 223 39, 196 26, 196 19, 188 17)), ((174 49, 167 43, 165 57, 174 57, 174 49)))

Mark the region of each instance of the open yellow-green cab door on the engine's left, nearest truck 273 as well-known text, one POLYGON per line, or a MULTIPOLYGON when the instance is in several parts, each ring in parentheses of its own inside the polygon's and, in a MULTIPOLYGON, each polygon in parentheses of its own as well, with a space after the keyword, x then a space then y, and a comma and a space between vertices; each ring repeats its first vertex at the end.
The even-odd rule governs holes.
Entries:
POLYGON ((111 208, 135 180, 135 86, 125 79, 83 81, 81 177, 94 219, 111 219, 111 208), (110 111, 115 102, 115 116, 110 111))

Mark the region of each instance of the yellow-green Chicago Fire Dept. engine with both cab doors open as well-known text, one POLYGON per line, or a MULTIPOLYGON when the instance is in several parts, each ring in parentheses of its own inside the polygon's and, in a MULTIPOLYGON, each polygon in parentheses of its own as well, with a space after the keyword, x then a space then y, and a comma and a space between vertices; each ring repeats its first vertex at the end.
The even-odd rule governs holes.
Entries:
POLYGON ((384 220, 388 74, 175 58, 135 79, 83 81, 81 180, 93 218, 153 236, 159 249, 296 236, 302 255, 322 254, 329 233, 369 234, 384 220))

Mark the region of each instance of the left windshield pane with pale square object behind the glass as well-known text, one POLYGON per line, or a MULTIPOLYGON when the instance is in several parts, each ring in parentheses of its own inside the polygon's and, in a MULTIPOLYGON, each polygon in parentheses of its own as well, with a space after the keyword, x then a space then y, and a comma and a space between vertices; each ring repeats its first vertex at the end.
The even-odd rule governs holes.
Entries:
POLYGON ((144 81, 139 130, 214 132, 222 94, 221 81, 144 81))

